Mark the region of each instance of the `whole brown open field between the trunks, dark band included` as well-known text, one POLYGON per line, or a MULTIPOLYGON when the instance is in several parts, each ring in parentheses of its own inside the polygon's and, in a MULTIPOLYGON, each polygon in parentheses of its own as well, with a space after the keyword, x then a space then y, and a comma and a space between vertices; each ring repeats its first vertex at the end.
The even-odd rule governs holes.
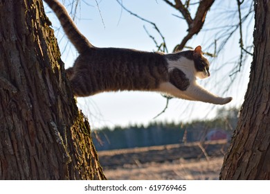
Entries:
POLYGON ((226 141, 98 152, 108 179, 218 179, 226 141))

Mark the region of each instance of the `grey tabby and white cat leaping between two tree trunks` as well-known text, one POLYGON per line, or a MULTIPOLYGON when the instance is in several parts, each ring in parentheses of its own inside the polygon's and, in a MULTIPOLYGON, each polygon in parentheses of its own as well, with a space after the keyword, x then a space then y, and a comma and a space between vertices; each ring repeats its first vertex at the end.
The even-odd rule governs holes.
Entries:
POLYGON ((197 46, 194 51, 153 53, 128 48, 98 48, 80 33, 66 8, 57 0, 44 0, 55 12, 79 56, 66 69, 74 96, 105 91, 156 91, 167 96, 224 105, 232 98, 211 94, 197 84, 208 78, 209 62, 197 46))

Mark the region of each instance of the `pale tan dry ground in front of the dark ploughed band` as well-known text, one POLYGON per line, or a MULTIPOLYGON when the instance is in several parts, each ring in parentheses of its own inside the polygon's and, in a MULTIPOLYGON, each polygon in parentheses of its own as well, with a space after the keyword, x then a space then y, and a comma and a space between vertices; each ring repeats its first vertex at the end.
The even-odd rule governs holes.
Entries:
POLYGON ((111 180, 213 180, 218 179, 223 157, 209 159, 179 159, 165 163, 147 163, 123 168, 105 169, 111 180))

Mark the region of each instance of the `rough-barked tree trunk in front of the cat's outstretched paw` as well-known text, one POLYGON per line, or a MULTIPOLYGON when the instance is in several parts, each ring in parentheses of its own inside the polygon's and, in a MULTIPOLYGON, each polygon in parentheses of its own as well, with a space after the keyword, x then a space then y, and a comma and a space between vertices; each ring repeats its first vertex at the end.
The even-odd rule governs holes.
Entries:
POLYGON ((270 1, 255 1, 249 86, 220 179, 270 179, 270 1))

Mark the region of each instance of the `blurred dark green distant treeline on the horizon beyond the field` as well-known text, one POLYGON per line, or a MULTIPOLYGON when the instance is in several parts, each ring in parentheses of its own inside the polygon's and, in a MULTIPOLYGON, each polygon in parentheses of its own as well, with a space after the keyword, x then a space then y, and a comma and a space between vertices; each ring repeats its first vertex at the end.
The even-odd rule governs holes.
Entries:
POLYGON ((237 124, 238 109, 219 109, 217 116, 209 121, 191 123, 152 122, 146 127, 108 127, 92 132, 93 143, 97 150, 115 150, 123 148, 167 145, 192 141, 202 141, 213 129, 226 130, 231 134, 237 124))

